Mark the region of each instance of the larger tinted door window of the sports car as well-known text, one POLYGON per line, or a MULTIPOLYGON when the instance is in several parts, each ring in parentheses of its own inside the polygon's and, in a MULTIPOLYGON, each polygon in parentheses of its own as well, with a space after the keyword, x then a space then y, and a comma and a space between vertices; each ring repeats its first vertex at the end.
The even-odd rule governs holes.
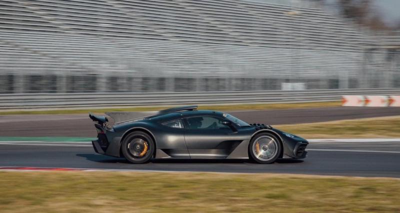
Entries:
POLYGON ((222 129, 222 119, 212 116, 198 116, 186 118, 188 129, 222 129))

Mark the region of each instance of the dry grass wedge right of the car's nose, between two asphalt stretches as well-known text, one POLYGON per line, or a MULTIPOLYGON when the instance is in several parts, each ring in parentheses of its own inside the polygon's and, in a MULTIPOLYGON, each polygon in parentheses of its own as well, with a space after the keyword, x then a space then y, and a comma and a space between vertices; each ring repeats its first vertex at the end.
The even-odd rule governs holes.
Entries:
POLYGON ((275 125, 274 127, 308 139, 399 138, 400 116, 275 125))

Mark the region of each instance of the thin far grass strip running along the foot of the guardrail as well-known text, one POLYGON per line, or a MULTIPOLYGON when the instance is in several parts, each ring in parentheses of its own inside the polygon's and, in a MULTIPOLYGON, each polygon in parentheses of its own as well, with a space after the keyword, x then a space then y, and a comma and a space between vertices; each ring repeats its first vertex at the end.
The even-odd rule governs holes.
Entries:
MULTIPOLYGON (((238 104, 238 105, 204 105, 199 109, 209 109, 218 111, 236 110, 271 110, 271 109, 297 109, 297 108, 317 108, 317 107, 338 107, 341 102, 312 102, 312 103, 274 103, 274 104, 238 104)), ((173 107, 173 106, 172 106, 173 107)), ((158 111, 169 107, 126 107, 126 108, 102 108, 102 109, 57 109, 57 110, 21 110, 21 111, 1 111, 0 115, 34 115, 34 114, 80 114, 80 113, 104 113, 104 112, 132 112, 132 111, 158 111)))

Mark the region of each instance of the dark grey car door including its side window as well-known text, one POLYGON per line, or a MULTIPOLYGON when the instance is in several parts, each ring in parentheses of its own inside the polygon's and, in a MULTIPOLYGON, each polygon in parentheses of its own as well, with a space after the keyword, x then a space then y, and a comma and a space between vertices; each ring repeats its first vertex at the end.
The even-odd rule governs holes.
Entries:
POLYGON ((237 132, 222 124, 217 116, 191 116, 184 118, 184 139, 190 158, 226 158, 241 142, 237 132))

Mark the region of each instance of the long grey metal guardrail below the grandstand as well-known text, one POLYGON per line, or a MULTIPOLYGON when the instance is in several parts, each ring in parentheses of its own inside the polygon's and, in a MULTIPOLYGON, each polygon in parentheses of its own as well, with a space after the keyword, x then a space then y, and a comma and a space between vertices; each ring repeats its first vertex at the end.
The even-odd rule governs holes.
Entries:
POLYGON ((0 110, 182 104, 339 101, 342 95, 398 95, 400 88, 302 91, 0 94, 0 110))

